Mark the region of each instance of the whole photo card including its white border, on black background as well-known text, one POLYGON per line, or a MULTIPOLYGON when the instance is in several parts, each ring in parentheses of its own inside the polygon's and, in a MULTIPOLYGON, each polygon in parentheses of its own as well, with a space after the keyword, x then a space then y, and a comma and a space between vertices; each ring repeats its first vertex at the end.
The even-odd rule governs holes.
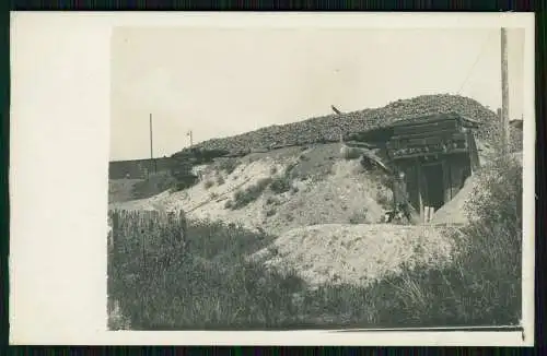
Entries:
POLYGON ((534 16, 12 16, 10 342, 534 344, 534 16))

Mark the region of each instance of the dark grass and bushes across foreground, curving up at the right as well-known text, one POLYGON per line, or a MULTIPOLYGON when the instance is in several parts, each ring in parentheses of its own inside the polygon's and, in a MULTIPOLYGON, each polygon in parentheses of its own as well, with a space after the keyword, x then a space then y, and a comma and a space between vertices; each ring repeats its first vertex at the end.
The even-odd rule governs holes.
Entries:
MULTIPOLYGON (((136 330, 517 324, 522 166, 500 159, 480 180, 467 205, 472 223, 457 237, 459 253, 443 268, 406 269, 369 287, 311 290, 291 271, 269 271, 245 260, 268 246, 271 236, 190 222, 184 249, 153 236, 165 237, 168 229, 154 229, 148 238, 164 241, 155 250, 143 250, 136 239, 112 250, 109 295, 136 330), (150 263, 149 256, 162 258, 150 263)), ((117 235, 131 236, 124 232, 128 222, 120 226, 117 235)))

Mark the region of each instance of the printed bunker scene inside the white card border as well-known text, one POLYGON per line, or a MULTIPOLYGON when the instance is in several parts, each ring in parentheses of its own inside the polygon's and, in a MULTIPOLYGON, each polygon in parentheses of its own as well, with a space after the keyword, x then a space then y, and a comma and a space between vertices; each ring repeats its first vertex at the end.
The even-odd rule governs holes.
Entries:
POLYGON ((519 327, 523 44, 115 28, 108 328, 519 327))

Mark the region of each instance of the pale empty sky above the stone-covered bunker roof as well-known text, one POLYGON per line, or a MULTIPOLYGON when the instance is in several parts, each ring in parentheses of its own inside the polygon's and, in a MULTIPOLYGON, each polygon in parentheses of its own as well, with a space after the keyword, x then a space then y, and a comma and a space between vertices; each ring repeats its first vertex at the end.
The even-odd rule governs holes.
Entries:
MULTIPOLYGON (((510 119, 523 105, 524 29, 508 32, 510 119)), ((110 161, 154 157, 271 124, 461 94, 501 107, 500 29, 117 27, 110 161)))

